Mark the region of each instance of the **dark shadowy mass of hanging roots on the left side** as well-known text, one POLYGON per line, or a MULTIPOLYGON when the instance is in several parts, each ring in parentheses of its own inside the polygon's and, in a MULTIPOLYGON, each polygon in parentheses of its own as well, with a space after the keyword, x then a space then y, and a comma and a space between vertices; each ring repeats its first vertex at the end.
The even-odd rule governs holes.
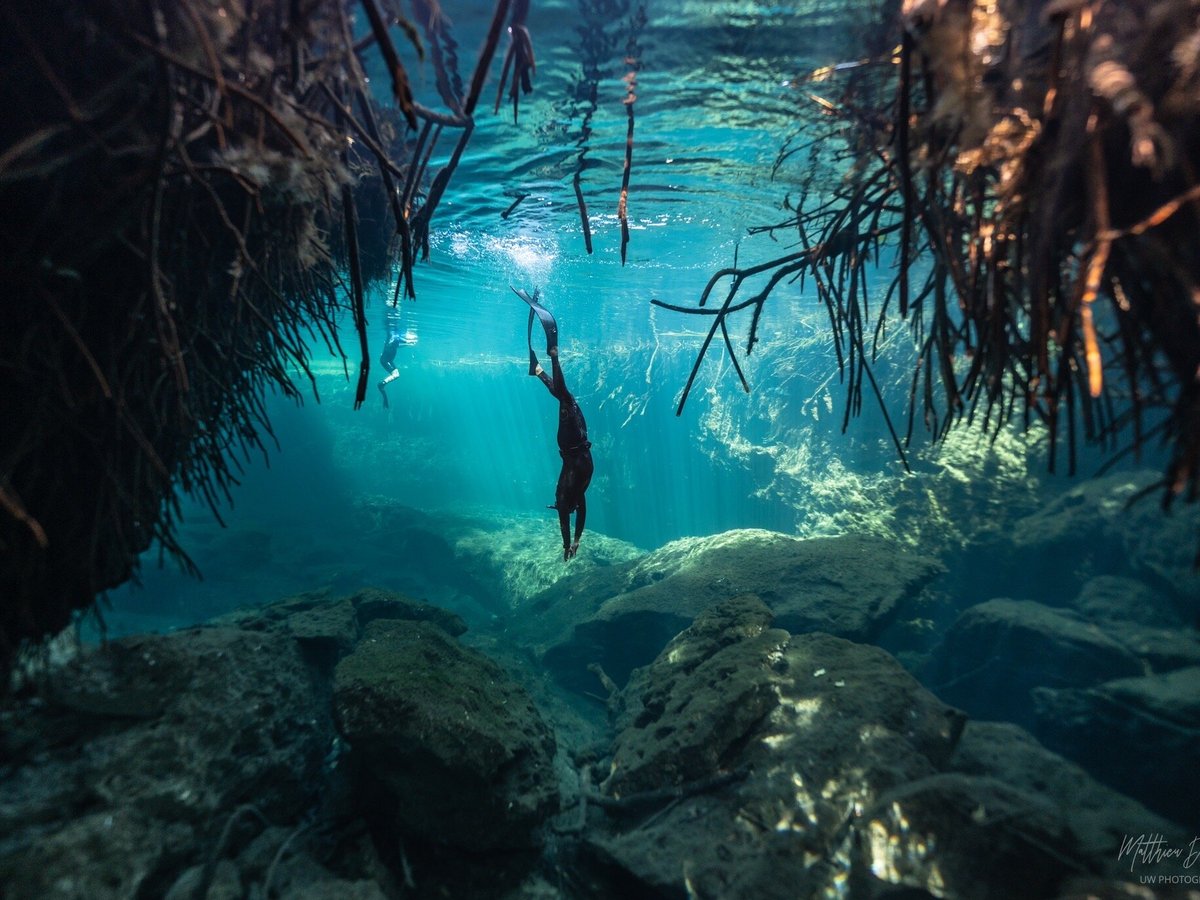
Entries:
POLYGON ((367 287, 398 245, 397 298, 414 295, 512 0, 461 102, 449 22, 415 4, 445 114, 415 102, 389 36, 400 24, 420 52, 415 29, 359 2, 356 43, 340 0, 0 4, 0 690, 22 642, 62 630, 152 542, 192 568, 176 492, 217 514, 236 457, 274 440, 265 394, 299 398, 296 372, 316 386, 308 342, 341 352, 347 311, 361 403, 367 287), (371 48, 395 109, 370 98, 371 48), (415 144, 397 138, 419 124, 415 144), (461 138, 421 204, 446 124, 461 138))

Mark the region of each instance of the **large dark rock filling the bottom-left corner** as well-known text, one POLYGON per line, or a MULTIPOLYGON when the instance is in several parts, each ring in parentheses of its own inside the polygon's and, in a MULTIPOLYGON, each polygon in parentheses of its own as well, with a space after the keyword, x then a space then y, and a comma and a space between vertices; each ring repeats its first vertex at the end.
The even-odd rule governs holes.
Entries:
POLYGON ((282 634, 122 638, 46 682, 0 727, 12 898, 163 893, 241 804, 299 816, 334 738, 328 689, 282 634))

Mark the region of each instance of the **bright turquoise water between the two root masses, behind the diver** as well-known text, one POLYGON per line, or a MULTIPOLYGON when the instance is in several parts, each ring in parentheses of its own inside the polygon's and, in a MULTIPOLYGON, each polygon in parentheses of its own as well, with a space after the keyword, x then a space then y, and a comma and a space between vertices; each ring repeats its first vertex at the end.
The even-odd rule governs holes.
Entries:
MULTIPOLYGON (((650 300, 695 306, 716 270, 794 248, 787 233, 748 229, 786 218, 782 204, 808 174, 805 154, 775 167, 785 146, 805 140, 797 110, 811 104, 815 88, 798 79, 859 56, 868 16, 869 5, 846 2, 535 5, 534 94, 522 98, 514 124, 509 108, 490 109, 494 82, 485 89, 478 127, 434 216, 430 259, 416 269, 418 299, 402 304, 408 343, 397 356, 402 376, 389 389, 391 409, 372 388, 353 410, 346 372, 356 372, 356 359, 343 362, 317 343, 319 402, 308 391, 300 407, 269 403, 278 445, 269 446, 269 463, 246 460, 232 508, 218 510, 228 529, 185 500, 182 544, 205 581, 160 566, 152 550, 143 586, 112 594, 114 630, 154 624, 145 616, 163 624, 203 619, 318 587, 398 581, 416 590, 404 580, 420 558, 400 548, 380 559, 355 542, 365 498, 482 517, 497 532, 506 517, 536 517, 544 528, 530 540, 544 540, 553 559, 557 521, 545 506, 559 468, 556 407, 526 374, 527 310, 509 286, 539 288, 558 317, 563 367, 588 420, 596 468, 584 548, 593 535, 653 550, 748 527, 954 544, 996 509, 1028 506, 1032 481, 1045 480, 1036 432, 1006 436, 997 448, 964 432, 947 451, 929 448, 918 424, 910 475, 870 397, 842 431, 845 388, 811 281, 774 290, 749 358, 748 313, 734 323, 751 394, 718 341, 676 415, 709 320, 650 300), (634 68, 626 60, 635 58, 623 265, 623 101, 634 68), (947 506, 966 500, 971 508, 947 506)), ((452 13, 464 78, 488 17, 486 4, 456 5, 452 13)), ((428 65, 409 65, 418 97, 437 106, 428 65)), ((380 73, 373 84, 386 92, 380 73)), ((443 137, 431 172, 455 137, 443 137)), ((877 290, 888 282, 888 262, 880 260, 877 290)), ((743 295, 762 283, 749 282, 743 295)), ((720 302, 724 284, 710 304, 720 302)), ((372 384, 383 376, 377 356, 392 290, 386 282, 370 289, 372 384)), ((356 349, 350 328, 343 346, 356 349)), ((910 360, 911 341, 896 323, 875 371, 901 430, 910 360)), ((1085 457, 1085 470, 1099 460, 1085 457)))

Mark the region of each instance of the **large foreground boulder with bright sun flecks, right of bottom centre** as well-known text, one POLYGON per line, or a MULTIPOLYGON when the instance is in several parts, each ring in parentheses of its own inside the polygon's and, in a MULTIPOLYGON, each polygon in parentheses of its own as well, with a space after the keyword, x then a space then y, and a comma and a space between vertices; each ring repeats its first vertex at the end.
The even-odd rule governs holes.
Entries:
POLYGON ((623 691, 614 812, 587 841, 635 880, 625 895, 833 889, 857 865, 854 810, 949 760, 961 714, 887 653, 769 625, 756 598, 716 604, 623 691))

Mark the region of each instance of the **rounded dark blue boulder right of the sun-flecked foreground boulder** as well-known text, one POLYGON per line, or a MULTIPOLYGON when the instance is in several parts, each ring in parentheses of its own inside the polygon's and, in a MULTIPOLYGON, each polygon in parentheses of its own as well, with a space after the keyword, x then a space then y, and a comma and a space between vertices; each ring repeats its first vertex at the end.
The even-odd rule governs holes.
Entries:
POLYGON ((1142 664, 1094 624, 1031 600, 964 612, 935 650, 926 683, 979 719, 1033 722, 1030 691, 1142 674, 1142 664))

